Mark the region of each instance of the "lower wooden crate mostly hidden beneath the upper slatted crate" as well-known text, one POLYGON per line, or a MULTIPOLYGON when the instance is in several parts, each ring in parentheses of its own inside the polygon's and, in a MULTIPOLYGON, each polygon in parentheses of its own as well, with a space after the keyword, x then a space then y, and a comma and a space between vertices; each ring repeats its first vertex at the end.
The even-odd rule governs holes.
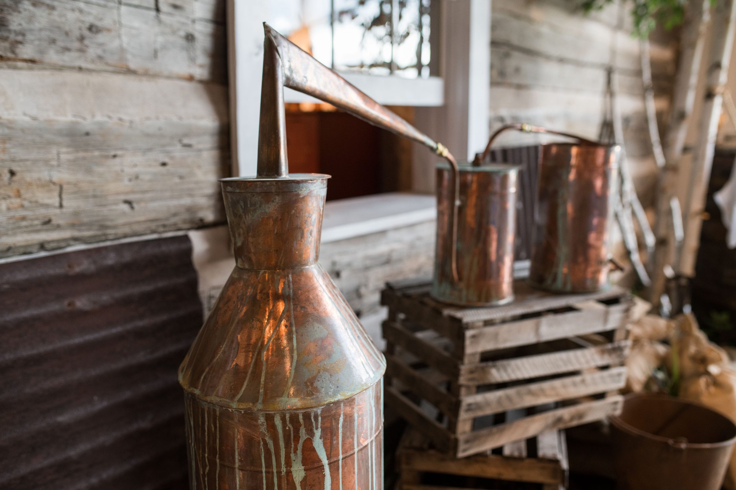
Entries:
POLYGON ((397 490, 483 489, 489 484, 494 489, 563 490, 567 486, 562 430, 506 444, 494 453, 457 459, 435 450, 426 436, 410 427, 401 439, 397 462, 397 490))

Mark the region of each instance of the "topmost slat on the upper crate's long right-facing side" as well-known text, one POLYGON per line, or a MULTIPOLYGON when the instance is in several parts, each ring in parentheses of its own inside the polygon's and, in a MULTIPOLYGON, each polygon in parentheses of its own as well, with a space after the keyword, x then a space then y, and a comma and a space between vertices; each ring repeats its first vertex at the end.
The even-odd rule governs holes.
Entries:
POLYGON ((604 309, 581 309, 469 330, 465 352, 477 353, 605 331, 604 309))

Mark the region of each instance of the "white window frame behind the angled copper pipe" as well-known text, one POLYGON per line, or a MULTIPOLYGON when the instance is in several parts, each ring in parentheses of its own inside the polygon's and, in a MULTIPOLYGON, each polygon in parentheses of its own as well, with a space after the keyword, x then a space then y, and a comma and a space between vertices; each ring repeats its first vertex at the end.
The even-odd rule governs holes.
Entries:
MULTIPOLYGON (((404 79, 341 73, 385 105, 417 107, 417 127, 466 159, 488 138, 491 0, 436 0, 440 4, 440 76, 404 79)), ((267 0, 227 0, 230 131, 234 176, 255 175, 261 110, 263 21, 267 0)), ((435 37, 437 39, 438 37, 435 37)), ((314 99, 287 89, 289 102, 314 99)), ((414 151, 414 191, 434 188, 434 157, 414 151)))

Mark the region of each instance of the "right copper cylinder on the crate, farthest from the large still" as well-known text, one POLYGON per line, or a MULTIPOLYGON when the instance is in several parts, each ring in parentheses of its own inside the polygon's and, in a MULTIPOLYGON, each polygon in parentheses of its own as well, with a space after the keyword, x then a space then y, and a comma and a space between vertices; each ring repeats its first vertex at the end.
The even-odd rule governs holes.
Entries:
POLYGON ((529 281, 552 292, 608 285, 618 145, 542 145, 529 281))

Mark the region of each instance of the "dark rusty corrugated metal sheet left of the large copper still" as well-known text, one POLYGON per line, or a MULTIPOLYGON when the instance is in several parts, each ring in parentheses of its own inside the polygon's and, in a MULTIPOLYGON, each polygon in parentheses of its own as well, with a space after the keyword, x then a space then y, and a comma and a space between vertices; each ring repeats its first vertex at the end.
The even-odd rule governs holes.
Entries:
POLYGON ((186 488, 188 237, 0 264, 0 488, 186 488))

